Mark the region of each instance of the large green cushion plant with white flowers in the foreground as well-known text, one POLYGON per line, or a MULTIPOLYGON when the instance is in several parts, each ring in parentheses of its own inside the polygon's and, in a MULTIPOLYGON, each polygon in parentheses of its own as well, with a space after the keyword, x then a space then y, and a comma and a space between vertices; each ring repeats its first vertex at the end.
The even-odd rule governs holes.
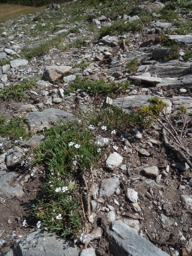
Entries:
POLYGON ((84 172, 98 158, 92 133, 81 125, 58 123, 45 132, 46 141, 33 151, 33 164, 45 164, 41 198, 33 215, 47 230, 79 237, 82 229, 80 188, 84 172))

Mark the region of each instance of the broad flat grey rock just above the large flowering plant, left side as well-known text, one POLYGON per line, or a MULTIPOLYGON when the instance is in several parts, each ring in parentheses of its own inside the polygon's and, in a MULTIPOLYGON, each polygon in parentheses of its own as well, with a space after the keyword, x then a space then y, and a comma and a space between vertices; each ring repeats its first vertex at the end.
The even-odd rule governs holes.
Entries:
POLYGON ((51 121, 66 121, 73 117, 73 114, 59 110, 46 109, 42 112, 31 112, 25 116, 25 122, 31 130, 42 131, 44 127, 50 128, 51 121))

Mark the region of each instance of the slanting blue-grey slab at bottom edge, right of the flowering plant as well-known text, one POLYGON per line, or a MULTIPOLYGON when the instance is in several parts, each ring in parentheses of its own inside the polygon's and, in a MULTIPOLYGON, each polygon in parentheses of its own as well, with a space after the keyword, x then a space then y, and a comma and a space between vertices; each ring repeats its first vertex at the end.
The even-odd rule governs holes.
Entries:
POLYGON ((110 238, 109 250, 113 255, 168 256, 121 221, 112 222, 107 234, 110 238))

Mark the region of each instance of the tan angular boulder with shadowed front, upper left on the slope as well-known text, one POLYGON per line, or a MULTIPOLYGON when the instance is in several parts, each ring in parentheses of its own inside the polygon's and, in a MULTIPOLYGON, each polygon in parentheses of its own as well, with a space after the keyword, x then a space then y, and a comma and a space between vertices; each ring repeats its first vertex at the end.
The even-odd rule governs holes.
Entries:
POLYGON ((42 80, 54 82, 58 78, 68 75, 71 69, 70 66, 48 66, 42 75, 42 80))

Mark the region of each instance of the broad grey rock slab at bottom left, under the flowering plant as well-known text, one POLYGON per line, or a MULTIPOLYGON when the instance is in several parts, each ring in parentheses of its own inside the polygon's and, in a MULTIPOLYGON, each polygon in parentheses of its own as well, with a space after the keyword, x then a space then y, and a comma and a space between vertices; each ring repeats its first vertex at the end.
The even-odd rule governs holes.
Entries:
MULTIPOLYGON (((30 232, 10 251, 13 252, 12 255, 22 256, 79 255, 78 247, 74 243, 67 239, 61 239, 58 236, 39 231, 30 232)), ((10 251, 4 255, 11 255, 10 251)))

